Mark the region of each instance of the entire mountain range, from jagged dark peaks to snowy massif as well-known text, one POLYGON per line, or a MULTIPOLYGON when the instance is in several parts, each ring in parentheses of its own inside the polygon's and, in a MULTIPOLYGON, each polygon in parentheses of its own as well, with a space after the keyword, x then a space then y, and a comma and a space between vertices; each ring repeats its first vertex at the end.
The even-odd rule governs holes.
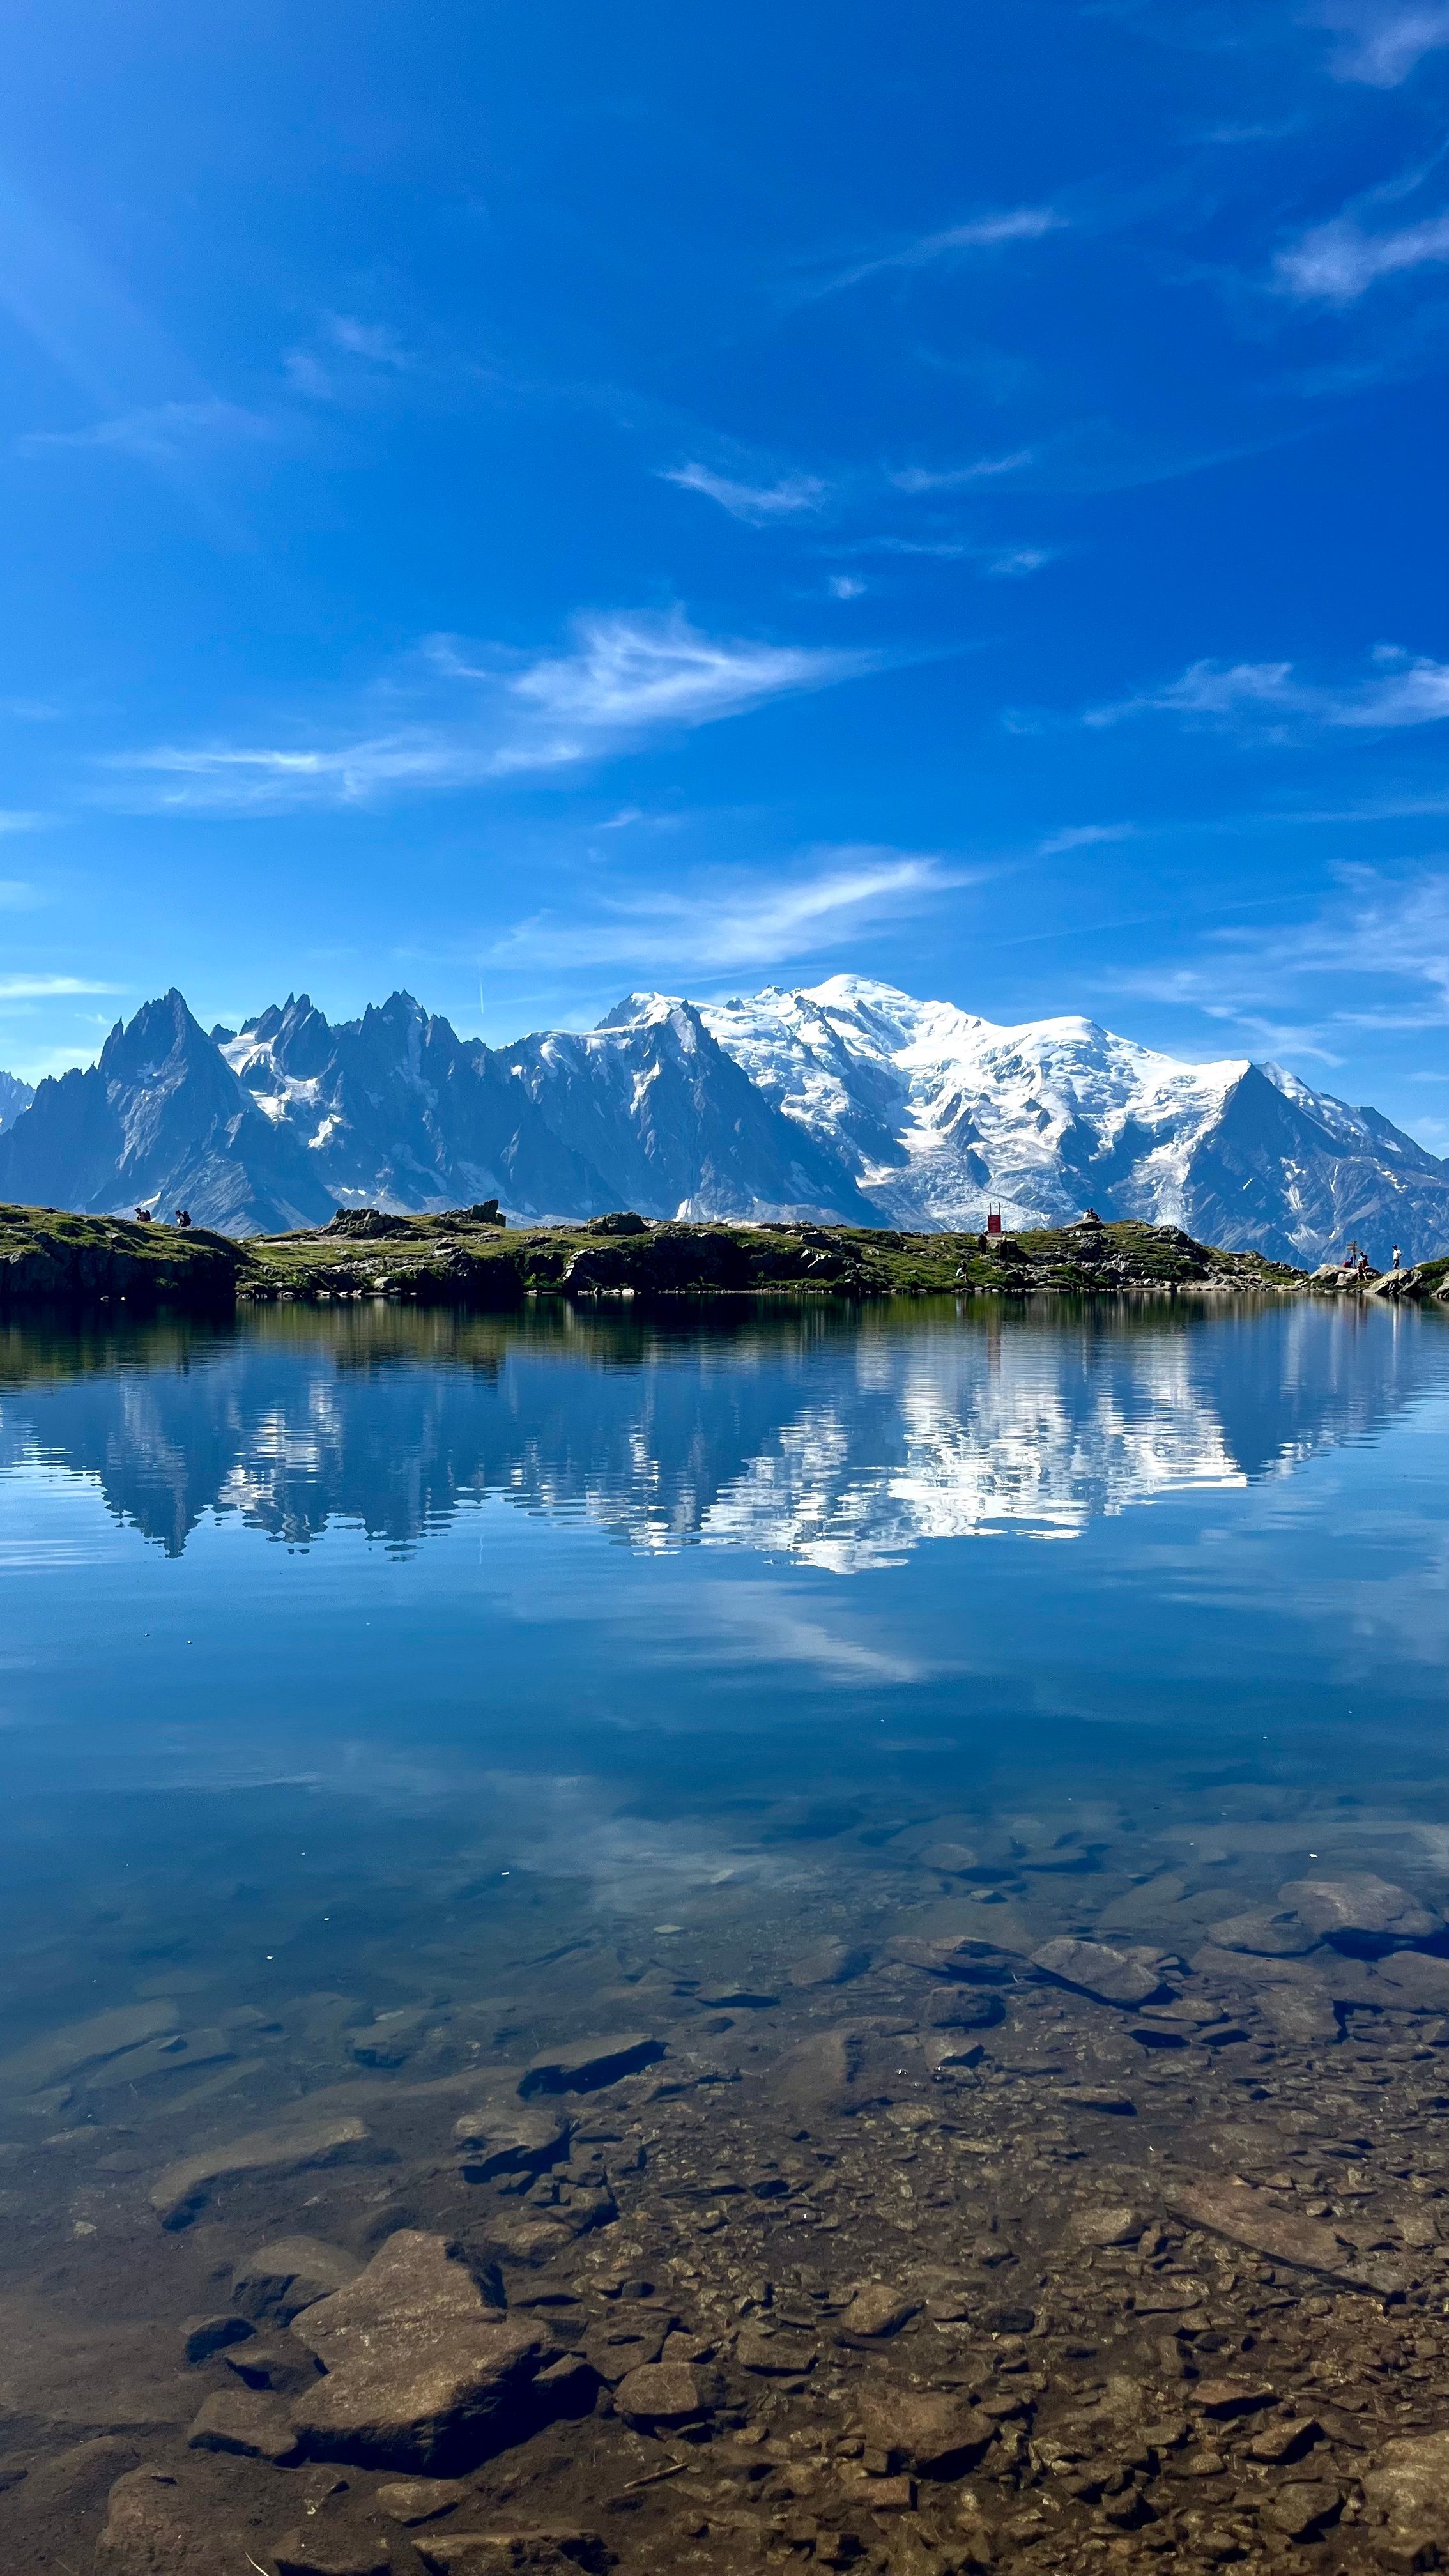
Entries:
POLYGON ((1101 1216, 1312 1265, 1449 1244, 1449 1164, 1279 1066, 1181 1064, 1093 1020, 998 1028, 830 976, 490 1048, 392 994, 302 997, 209 1036, 178 992, 0 1133, 0 1198, 188 1206, 235 1234, 335 1206, 980 1229, 1101 1216))

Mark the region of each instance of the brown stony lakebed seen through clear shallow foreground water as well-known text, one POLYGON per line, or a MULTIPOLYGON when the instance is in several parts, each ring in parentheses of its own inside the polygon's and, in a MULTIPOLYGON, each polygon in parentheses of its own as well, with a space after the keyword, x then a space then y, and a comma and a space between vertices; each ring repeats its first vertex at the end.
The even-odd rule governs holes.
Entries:
POLYGON ((18 2048, 10 2563, 1439 2566, 1439 1906, 949 1837, 853 1919, 18 2048))

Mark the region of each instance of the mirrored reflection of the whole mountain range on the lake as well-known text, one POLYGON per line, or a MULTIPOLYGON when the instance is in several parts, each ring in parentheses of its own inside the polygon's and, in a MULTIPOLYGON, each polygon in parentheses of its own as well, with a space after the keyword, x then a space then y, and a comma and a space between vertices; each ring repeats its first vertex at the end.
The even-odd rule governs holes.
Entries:
POLYGON ((928 1538, 1075 1538, 1292 1473, 1405 1409, 1434 1327, 1315 1303, 928 1303, 10 1329, 0 1473, 90 1479, 170 1556, 206 1515, 410 1548, 503 1497, 645 1551, 856 1574, 928 1538))

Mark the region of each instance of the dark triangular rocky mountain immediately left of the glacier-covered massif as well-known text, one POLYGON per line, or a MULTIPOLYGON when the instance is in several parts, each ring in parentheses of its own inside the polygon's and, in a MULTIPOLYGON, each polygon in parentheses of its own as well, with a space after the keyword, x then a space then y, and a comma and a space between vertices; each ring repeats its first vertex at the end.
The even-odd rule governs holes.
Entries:
POLYGON ((523 1038, 505 1061, 606 1175, 608 1208, 879 1224, 843 1157, 766 1100, 691 1002, 632 994, 585 1036, 523 1038))

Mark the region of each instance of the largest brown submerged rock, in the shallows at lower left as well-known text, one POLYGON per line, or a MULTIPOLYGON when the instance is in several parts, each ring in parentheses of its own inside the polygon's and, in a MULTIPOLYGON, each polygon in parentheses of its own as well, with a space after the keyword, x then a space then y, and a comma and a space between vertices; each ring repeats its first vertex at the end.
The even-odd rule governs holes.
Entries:
POLYGON ((539 2362, 539 2326, 482 2306, 441 2236, 402 2228, 366 2272, 304 2308, 291 2331, 322 2362, 291 2421, 317 2460, 361 2468, 467 2465, 508 2437, 539 2362))

